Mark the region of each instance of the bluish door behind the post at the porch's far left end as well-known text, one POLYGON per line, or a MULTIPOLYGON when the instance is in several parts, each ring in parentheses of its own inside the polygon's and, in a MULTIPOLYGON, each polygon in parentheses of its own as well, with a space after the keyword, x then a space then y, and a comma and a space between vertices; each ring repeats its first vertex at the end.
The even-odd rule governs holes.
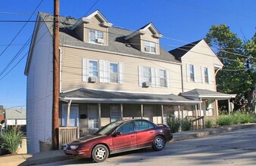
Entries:
MULTIPOLYGON (((70 106, 70 126, 79 126, 79 106, 70 106)), ((67 126, 67 104, 62 105, 62 126, 67 126)))

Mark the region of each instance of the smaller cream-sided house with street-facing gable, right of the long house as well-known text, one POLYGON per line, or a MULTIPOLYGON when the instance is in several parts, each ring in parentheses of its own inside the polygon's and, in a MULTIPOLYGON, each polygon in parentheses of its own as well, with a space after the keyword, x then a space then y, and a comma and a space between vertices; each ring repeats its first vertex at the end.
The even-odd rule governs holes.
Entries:
POLYGON ((190 99, 199 99, 196 116, 218 115, 217 100, 229 100, 234 94, 217 92, 215 75, 223 63, 217 58, 204 39, 169 51, 182 63, 183 93, 190 99))

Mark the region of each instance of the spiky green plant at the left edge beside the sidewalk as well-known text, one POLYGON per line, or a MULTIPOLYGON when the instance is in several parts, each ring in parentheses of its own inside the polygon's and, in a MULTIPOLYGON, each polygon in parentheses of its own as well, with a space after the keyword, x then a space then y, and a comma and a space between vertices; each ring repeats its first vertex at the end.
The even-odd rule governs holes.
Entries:
POLYGON ((0 137, 0 146, 14 155, 21 145, 22 137, 23 132, 20 131, 20 126, 9 127, 0 137))

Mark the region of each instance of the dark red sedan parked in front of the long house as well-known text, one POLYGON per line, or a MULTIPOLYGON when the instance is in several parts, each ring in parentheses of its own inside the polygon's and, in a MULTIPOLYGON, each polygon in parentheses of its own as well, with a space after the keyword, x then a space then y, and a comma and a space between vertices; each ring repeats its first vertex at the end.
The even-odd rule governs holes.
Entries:
POLYGON ((66 155, 102 162, 108 155, 117 152, 147 147, 160 151, 172 139, 173 135, 167 125, 157 125, 145 119, 131 119, 110 123, 95 134, 74 140, 67 144, 64 152, 66 155))

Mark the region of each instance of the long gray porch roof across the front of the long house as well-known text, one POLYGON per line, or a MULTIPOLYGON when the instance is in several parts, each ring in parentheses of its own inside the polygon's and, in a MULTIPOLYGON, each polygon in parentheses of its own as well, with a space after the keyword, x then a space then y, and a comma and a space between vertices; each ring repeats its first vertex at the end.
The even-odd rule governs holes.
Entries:
POLYGON ((101 91, 80 88, 60 94, 60 100, 76 103, 141 103, 195 105, 200 100, 191 100, 174 94, 145 94, 123 91, 101 91))

